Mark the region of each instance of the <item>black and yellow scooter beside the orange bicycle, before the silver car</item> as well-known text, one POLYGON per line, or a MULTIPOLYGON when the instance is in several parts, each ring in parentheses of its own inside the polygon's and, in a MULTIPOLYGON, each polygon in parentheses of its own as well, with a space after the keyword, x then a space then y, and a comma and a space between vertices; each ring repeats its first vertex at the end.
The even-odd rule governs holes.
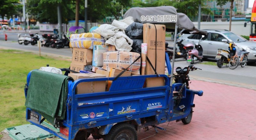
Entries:
POLYGON ((217 51, 217 56, 215 57, 215 59, 217 59, 217 66, 221 68, 223 63, 228 63, 230 58, 234 55, 236 55, 236 47, 234 42, 229 43, 227 50, 219 48, 217 51))

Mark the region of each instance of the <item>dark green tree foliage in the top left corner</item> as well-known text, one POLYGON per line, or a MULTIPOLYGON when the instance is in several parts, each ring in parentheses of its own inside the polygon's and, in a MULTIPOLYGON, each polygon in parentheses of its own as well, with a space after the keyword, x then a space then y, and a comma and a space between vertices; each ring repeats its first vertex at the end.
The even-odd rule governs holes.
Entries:
POLYGON ((18 7, 21 6, 18 5, 19 3, 19 0, 0 0, 0 16, 4 18, 5 15, 7 17, 15 15, 18 7))

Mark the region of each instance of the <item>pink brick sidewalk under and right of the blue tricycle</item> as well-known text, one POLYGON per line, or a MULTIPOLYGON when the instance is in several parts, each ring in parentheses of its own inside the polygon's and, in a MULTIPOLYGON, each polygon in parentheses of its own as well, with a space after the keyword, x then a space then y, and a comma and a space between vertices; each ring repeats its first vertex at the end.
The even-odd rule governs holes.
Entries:
MULTIPOLYGON (((160 124, 166 131, 140 129, 138 140, 253 140, 256 139, 254 101, 256 91, 193 80, 193 90, 203 90, 204 95, 195 96, 193 117, 189 124, 172 121, 160 124)), ((88 140, 93 140, 92 136, 88 140)))

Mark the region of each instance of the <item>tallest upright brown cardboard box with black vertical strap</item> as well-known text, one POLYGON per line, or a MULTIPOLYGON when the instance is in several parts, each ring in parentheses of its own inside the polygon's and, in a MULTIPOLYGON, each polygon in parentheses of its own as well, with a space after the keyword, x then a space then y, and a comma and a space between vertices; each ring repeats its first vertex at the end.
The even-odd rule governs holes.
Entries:
MULTIPOLYGON (((157 74, 164 74, 165 66, 165 25, 143 24, 143 43, 148 44, 147 56, 157 74), (156 27, 155 27, 156 26, 156 27), (156 34, 157 33, 157 34, 156 34)), ((155 74, 146 61, 146 75, 155 74)), ((163 86, 164 78, 147 78, 146 87, 163 86)))

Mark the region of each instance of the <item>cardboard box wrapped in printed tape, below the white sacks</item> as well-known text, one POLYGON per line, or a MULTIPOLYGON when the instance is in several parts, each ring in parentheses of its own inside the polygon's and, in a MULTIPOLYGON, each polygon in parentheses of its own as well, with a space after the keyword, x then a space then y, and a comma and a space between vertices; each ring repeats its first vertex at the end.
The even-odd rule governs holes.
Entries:
MULTIPOLYGON (((103 53, 103 69, 110 71, 112 68, 124 70, 129 67, 138 57, 139 53, 125 51, 111 51, 103 53)), ((133 63, 127 71, 132 74, 140 74, 140 59, 133 63)))

